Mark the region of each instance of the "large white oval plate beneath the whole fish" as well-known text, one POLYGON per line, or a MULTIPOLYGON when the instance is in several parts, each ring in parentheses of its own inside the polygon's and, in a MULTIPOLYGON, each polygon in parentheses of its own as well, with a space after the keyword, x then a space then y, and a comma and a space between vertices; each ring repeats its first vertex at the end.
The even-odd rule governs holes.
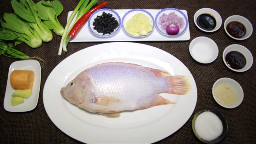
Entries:
POLYGON ((115 42, 80 50, 61 61, 48 76, 43 91, 44 108, 52 122, 70 137, 84 143, 153 143, 180 129, 196 106, 196 83, 188 68, 171 54, 144 44, 115 42), (173 105, 121 112, 120 118, 92 114, 60 95, 64 87, 86 68, 104 62, 129 62, 158 68, 191 79, 186 95, 161 93, 173 105))

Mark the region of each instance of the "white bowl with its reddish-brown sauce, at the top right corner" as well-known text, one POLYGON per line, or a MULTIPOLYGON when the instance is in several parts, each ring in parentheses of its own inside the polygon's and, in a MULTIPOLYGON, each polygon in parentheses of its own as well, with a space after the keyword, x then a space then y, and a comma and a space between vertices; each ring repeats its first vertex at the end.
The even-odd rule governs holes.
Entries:
POLYGON ((252 35, 252 24, 243 16, 232 15, 224 22, 227 35, 236 40, 245 40, 252 35))

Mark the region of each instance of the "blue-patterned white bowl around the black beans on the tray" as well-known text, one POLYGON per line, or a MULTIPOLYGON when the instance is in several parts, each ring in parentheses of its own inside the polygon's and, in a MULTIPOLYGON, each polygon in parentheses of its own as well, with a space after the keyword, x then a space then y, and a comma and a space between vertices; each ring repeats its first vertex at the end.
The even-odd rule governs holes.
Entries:
POLYGON ((100 9, 96 12, 93 12, 92 15, 90 16, 89 20, 88 20, 88 27, 89 27, 89 30, 91 31, 92 34, 94 34, 95 36, 99 36, 99 37, 108 37, 108 36, 113 36, 114 34, 116 34, 118 32, 118 30, 120 29, 121 27, 121 18, 120 16, 118 15, 118 13, 114 10, 111 10, 111 9, 100 9), (114 29, 114 31, 111 33, 111 34, 105 34, 105 35, 102 35, 102 33, 98 33, 96 29, 93 29, 93 21, 94 19, 99 15, 102 15, 103 12, 106 12, 107 14, 110 13, 113 15, 113 17, 116 18, 116 20, 118 21, 118 27, 116 29, 114 29))

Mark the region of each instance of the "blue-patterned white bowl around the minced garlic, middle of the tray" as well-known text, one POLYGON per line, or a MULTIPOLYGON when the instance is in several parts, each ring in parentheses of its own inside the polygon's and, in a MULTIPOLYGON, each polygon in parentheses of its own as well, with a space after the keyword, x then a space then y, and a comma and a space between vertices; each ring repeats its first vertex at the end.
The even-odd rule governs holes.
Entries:
MULTIPOLYGON (((125 30, 125 26, 126 26, 126 23, 128 22, 128 20, 130 20, 130 19, 132 18, 132 16, 134 16, 134 15, 137 14, 137 13, 143 13, 143 14, 145 14, 146 16, 148 16, 149 18, 151 18, 151 20, 153 21, 153 24, 152 24, 152 31, 153 31, 154 28, 155 28, 155 23, 154 23, 155 20, 154 20, 154 18, 153 18, 153 16, 152 16, 151 13, 149 13, 148 11, 143 10, 143 9, 133 9, 133 10, 130 10, 130 11, 126 12, 126 13, 124 14, 123 18, 122 18, 122 28, 124 29, 124 32, 125 32, 127 35, 129 35, 129 36, 133 36, 133 37, 144 37, 144 36, 134 36, 134 35, 132 35, 132 34, 129 34, 129 33, 125 30)), ((149 32, 148 35, 150 35, 150 34, 152 33, 152 31, 149 32)), ((147 35, 147 36, 148 36, 148 35, 147 35)))

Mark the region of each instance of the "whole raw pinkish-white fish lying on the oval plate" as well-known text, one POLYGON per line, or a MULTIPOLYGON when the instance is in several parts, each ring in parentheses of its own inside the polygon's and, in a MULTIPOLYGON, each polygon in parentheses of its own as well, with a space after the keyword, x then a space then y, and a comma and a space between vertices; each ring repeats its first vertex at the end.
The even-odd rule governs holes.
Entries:
POLYGON ((85 69, 61 88, 61 95, 90 112, 117 117, 107 113, 171 104, 158 94, 186 94, 189 89, 186 76, 170 76, 131 63, 109 62, 85 69))

